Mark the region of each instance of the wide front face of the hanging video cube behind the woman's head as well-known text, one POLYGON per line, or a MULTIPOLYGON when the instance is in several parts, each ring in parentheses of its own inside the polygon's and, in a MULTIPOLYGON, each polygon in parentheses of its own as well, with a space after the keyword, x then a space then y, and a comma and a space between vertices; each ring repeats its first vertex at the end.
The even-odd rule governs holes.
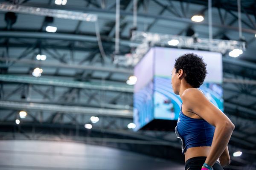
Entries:
POLYGON ((207 63, 207 77, 199 89, 223 111, 222 55, 209 51, 154 47, 154 119, 177 120, 181 99, 174 94, 171 78, 175 59, 186 53, 194 53, 207 63))

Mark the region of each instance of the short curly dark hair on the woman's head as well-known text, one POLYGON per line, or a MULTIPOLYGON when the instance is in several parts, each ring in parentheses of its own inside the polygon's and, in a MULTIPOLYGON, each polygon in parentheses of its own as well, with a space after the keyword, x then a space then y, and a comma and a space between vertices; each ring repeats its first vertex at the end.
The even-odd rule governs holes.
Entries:
POLYGON ((185 80, 193 88, 199 88, 206 77, 206 63, 196 54, 188 53, 175 59, 176 73, 182 69, 185 73, 185 80))

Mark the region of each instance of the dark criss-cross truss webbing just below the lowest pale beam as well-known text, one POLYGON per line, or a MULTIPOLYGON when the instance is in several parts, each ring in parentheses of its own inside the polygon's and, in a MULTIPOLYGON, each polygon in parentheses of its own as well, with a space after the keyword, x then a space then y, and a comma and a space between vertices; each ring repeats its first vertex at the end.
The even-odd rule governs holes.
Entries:
MULTIPOLYGON (((22 108, 23 109, 23 108, 22 108)), ((15 120, 19 119, 21 125, 30 126, 41 126, 44 124, 46 127, 55 127, 62 125, 65 128, 73 128, 74 126, 84 126, 85 124, 93 125, 93 129, 113 129, 113 130, 128 130, 127 125, 132 122, 129 117, 119 117, 119 116, 104 116, 95 113, 92 114, 74 114, 74 113, 64 113, 56 111, 38 111, 31 109, 24 109, 27 112, 25 119, 19 117, 20 109, 5 109, 1 108, 0 111, 0 125, 11 125, 15 124, 15 120), (11 110, 11 112, 9 112, 11 110), (98 122, 92 122, 91 116, 97 116, 99 118, 98 122), (39 125, 38 125, 39 124, 39 125)))

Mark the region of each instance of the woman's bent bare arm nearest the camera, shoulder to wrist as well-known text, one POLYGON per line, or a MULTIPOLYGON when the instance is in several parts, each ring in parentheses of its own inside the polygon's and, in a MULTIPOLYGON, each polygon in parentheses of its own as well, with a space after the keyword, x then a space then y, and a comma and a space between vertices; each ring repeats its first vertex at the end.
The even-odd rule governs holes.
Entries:
POLYGON ((205 160, 205 163, 212 167, 215 161, 224 153, 235 125, 196 88, 189 88, 184 91, 182 100, 188 111, 197 114, 209 124, 215 126, 212 146, 205 160))

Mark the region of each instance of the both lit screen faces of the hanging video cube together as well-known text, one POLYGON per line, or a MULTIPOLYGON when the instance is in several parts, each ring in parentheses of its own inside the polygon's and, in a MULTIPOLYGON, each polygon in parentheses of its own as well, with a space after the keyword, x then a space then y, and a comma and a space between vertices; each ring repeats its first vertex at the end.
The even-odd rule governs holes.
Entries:
POLYGON ((177 120, 181 99, 174 94, 171 77, 175 59, 194 53, 207 63, 207 77, 199 88, 223 111, 222 55, 217 52, 154 47, 134 68, 134 122, 138 130, 153 119, 177 120))

